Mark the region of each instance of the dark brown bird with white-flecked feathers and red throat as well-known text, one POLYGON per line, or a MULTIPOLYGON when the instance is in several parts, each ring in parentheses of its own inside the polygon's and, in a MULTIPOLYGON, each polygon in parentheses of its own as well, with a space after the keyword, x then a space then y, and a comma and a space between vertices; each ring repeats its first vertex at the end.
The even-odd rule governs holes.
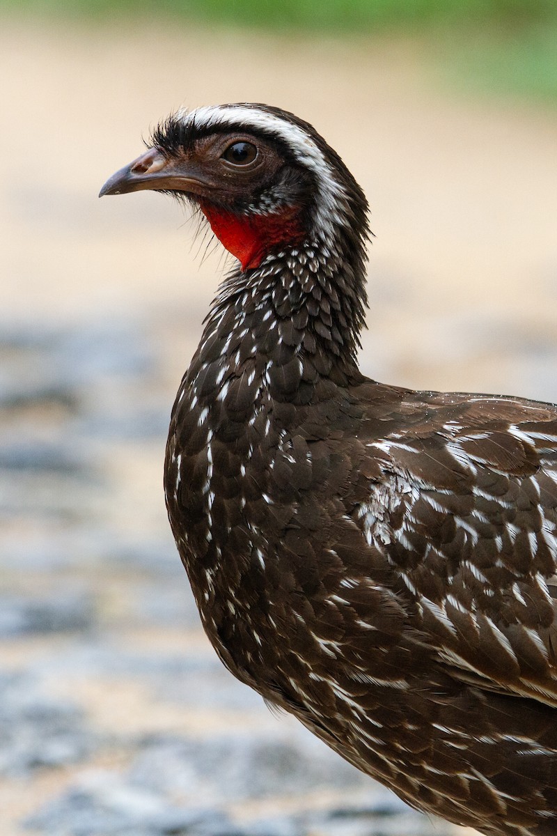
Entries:
POLYGON ((368 205, 306 121, 177 110, 102 195, 170 193, 235 266, 165 497, 220 660, 413 808, 557 833, 557 406, 358 367, 368 205))

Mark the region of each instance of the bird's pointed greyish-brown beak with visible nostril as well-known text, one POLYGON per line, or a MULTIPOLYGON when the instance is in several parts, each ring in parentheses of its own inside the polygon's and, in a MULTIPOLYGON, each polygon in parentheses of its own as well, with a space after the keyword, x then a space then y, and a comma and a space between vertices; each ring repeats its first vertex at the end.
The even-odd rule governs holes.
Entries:
POLYGON ((157 148, 149 148, 137 160, 116 171, 99 191, 104 195, 125 195, 129 191, 153 189, 155 191, 190 191, 199 194, 203 184, 189 172, 178 170, 176 161, 168 159, 157 148))

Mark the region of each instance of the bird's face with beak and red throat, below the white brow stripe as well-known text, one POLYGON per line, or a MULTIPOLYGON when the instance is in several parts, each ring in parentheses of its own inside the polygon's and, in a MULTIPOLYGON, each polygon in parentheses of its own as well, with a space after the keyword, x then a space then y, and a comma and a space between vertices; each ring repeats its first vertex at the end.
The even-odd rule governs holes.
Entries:
POLYGON ((232 131, 172 148, 163 141, 110 177, 99 196, 144 189, 188 196, 246 270, 304 236, 308 185, 270 141, 232 131))

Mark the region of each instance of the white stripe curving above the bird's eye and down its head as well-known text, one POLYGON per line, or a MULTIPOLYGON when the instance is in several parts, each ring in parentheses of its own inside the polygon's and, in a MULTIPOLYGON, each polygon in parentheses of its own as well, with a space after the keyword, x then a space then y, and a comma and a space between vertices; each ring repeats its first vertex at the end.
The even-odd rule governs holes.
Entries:
POLYGON ((263 130, 279 136, 301 166, 305 166, 316 177, 321 195, 321 199, 316 201, 316 229, 326 232, 326 237, 330 237, 339 222, 347 222, 347 199, 344 189, 335 179, 322 151, 311 140, 311 136, 298 125, 293 125, 265 110, 219 104, 206 105, 191 111, 180 110, 176 118, 185 123, 195 121, 200 127, 230 125, 248 131, 263 130))

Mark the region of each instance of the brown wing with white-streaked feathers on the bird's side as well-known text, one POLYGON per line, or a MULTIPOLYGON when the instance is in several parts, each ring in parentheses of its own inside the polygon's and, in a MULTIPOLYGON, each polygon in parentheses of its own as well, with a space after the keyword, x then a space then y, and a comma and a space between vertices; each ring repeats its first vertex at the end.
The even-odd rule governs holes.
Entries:
POLYGON ((481 395, 414 404, 410 430, 405 415, 403 432, 365 442, 380 474, 352 517, 447 670, 557 706, 557 410, 481 395))

